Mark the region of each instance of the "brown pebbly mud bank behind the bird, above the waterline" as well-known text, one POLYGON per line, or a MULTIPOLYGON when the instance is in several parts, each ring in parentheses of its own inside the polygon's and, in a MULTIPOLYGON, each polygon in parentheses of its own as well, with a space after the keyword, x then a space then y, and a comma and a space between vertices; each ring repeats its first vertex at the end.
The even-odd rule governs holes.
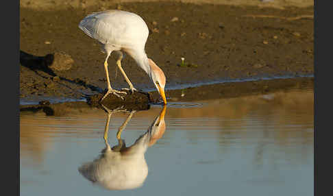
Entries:
MULTIPOLYGON (((60 10, 21 7, 21 51, 36 57, 64 53, 55 60, 70 56, 73 62, 70 69, 51 69, 52 73, 21 63, 20 97, 79 98, 103 92, 106 56, 77 25, 90 12, 116 8, 136 12, 146 21, 150 30, 146 52, 167 77, 167 96, 168 88, 180 84, 313 74, 313 20, 302 17, 313 15, 312 7, 279 10, 179 2, 60 10), (185 66, 180 66, 180 58, 185 58, 185 66)), ((127 87, 121 73, 115 72, 115 58, 108 61, 112 86, 127 87)), ((122 64, 136 88, 153 89, 130 56, 122 64)))

